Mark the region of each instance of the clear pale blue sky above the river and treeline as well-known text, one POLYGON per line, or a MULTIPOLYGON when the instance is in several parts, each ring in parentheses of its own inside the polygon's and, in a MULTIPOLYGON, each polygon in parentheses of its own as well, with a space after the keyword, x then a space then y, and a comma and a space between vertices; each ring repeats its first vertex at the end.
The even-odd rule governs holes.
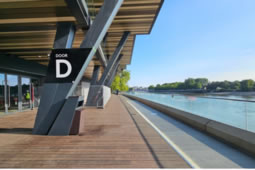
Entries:
POLYGON ((136 37, 129 86, 208 78, 255 80, 255 0, 165 0, 136 37))

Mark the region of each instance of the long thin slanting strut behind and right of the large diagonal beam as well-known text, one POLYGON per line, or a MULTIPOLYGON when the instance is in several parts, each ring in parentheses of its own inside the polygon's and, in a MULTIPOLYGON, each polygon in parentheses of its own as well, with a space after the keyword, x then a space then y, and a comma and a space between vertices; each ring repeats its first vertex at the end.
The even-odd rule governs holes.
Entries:
POLYGON ((118 59, 121 50, 125 46, 129 35, 130 35, 130 32, 124 32, 124 34, 122 35, 122 38, 121 38, 121 40, 120 40, 116 50, 114 51, 114 53, 112 55, 112 58, 108 62, 108 65, 107 65, 107 67, 106 67, 106 69, 105 69, 105 71, 104 71, 100 81, 98 82, 99 85, 103 85, 104 84, 108 74, 110 73, 110 71, 112 70, 112 67, 114 66, 114 64, 116 63, 116 61, 118 59))

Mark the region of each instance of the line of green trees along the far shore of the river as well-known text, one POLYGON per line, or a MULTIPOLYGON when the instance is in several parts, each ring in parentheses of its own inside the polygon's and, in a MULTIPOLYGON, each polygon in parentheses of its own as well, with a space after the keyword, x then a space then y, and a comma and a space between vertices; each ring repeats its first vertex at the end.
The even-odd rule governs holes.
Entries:
POLYGON ((160 90, 205 90, 205 91, 255 91, 254 80, 215 81, 207 78, 188 78, 184 82, 157 84, 149 86, 150 91, 160 90))

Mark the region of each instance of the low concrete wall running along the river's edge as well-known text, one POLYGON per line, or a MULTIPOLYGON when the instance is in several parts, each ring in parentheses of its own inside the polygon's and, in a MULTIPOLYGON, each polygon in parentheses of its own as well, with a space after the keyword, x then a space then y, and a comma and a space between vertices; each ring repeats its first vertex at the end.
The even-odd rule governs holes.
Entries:
POLYGON ((255 156, 255 133, 245 131, 230 125, 226 125, 214 120, 203 118, 185 111, 155 103, 135 96, 124 96, 137 100, 150 106, 170 117, 188 124, 189 126, 214 136, 224 142, 241 149, 242 151, 255 156))

